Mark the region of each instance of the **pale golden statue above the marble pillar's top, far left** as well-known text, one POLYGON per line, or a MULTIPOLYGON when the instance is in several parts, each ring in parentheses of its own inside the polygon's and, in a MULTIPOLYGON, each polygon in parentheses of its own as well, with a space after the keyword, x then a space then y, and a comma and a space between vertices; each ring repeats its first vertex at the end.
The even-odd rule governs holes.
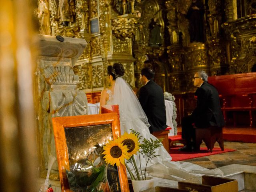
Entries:
POLYGON ((44 0, 40 0, 37 15, 40 22, 40 33, 42 35, 50 35, 50 12, 48 4, 44 0))

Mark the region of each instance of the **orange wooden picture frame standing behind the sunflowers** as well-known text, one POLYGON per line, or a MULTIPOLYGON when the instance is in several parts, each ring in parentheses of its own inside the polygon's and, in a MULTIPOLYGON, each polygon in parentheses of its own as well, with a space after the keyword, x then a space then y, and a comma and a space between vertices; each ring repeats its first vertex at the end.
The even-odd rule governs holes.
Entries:
MULTIPOLYGON (((60 184, 62 192, 73 192, 70 190, 68 178, 66 176, 66 170, 70 170, 70 161, 72 162, 73 156, 72 154, 78 154, 77 152, 70 153, 68 149, 67 141, 70 140, 79 140, 84 141, 84 147, 89 147, 88 143, 86 143, 86 139, 90 140, 90 142, 94 142, 95 136, 99 136, 95 138, 95 144, 100 142, 99 139, 108 137, 108 128, 110 129, 110 134, 112 134, 113 140, 120 136, 120 121, 117 113, 108 113, 108 114, 97 114, 97 115, 82 115, 82 116, 66 116, 66 117, 55 117, 52 118, 52 126, 54 130, 54 139, 56 144, 56 154, 58 160, 58 168, 60 175, 60 184), (107 130, 107 131, 106 131, 107 130), (86 132, 92 133, 92 135, 86 135, 86 132), (66 132, 66 133, 65 133, 66 132), (103 132, 103 133, 102 133, 103 132), (67 134, 70 133, 70 134, 67 134), (79 133, 79 134, 78 134, 79 133), (98 135, 96 135, 96 134, 98 135), (102 138, 100 137, 102 133, 102 138), (68 138, 66 138, 66 134, 68 138), (69 138, 70 137, 70 138, 69 138)), ((76 142, 76 141, 75 141, 76 142)), ((74 143, 75 143, 74 142, 74 143)), ((90 145, 94 145, 94 143, 90 143, 90 145)), ((78 150, 80 150, 80 145, 78 146, 78 150)), ((83 146, 81 147, 82 151, 83 146)), ((86 150, 84 150, 86 152, 86 150)), ((85 153, 86 154, 86 153, 85 153)), ((80 153, 81 156, 81 153, 80 153)), ((76 156, 77 158, 78 156, 76 156)), ((74 158, 74 159, 76 159, 74 158)), ((85 158, 85 157, 83 157, 85 158)), ((74 163, 74 162, 73 162, 74 163)), ((120 184, 121 192, 129 192, 128 179, 126 174, 126 167, 122 164, 117 167, 118 168, 118 177, 120 184)))

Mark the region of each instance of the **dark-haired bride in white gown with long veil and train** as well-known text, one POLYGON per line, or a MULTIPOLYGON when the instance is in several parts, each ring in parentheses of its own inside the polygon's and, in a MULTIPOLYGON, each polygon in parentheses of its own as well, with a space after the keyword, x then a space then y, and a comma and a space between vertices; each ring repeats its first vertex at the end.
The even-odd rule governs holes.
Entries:
MULTIPOLYGON (((149 132, 148 127, 150 124, 140 106, 138 98, 132 88, 122 78, 124 72, 124 67, 120 63, 108 66, 108 78, 111 86, 102 91, 100 106, 119 105, 121 134, 124 134, 124 132, 130 133, 130 129, 133 129, 140 132, 142 140, 143 138, 156 139, 156 137, 149 132)), ((202 174, 223 176, 223 172, 219 169, 209 170, 189 162, 172 162, 172 157, 163 146, 157 149, 156 154, 159 156, 154 158, 150 164, 147 165, 148 174, 154 177, 181 180, 202 174)), ((138 159, 136 161, 138 161, 138 159)), ((145 165, 142 165, 142 170, 143 168, 145 168, 145 165)), ((165 184, 168 184, 168 182, 165 184)))

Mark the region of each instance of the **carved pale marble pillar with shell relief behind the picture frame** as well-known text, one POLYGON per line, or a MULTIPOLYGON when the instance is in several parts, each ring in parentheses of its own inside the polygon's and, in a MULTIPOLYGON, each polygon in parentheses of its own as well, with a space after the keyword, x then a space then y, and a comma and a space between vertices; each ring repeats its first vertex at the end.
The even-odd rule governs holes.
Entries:
MULTIPOLYGON (((48 157, 56 156, 52 117, 88 114, 83 91, 76 90, 79 78, 73 67, 87 43, 84 39, 40 35, 36 71, 37 136, 40 175, 46 176, 48 157), (57 38, 59 37, 59 38, 57 38)), ((50 178, 58 180, 55 161, 50 178)))

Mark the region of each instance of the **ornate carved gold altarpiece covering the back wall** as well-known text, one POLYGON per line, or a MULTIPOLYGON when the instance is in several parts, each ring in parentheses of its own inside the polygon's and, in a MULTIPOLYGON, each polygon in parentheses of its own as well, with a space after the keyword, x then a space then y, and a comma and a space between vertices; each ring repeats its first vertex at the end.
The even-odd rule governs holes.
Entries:
POLYGON ((114 62, 124 64, 124 78, 139 88, 140 69, 149 59, 156 82, 174 94, 194 90, 191 77, 197 70, 210 75, 250 72, 255 62, 255 1, 244 1, 244 12, 239 14, 236 0, 204 0, 204 43, 189 40, 188 20, 182 12, 191 2, 40 0, 38 9, 44 3, 50 14, 50 25, 40 20, 41 33, 88 42, 74 67, 80 77, 78 89, 86 93, 100 92, 108 85, 106 67, 114 62), (148 46, 152 18, 161 24, 162 46, 158 48, 148 46))

